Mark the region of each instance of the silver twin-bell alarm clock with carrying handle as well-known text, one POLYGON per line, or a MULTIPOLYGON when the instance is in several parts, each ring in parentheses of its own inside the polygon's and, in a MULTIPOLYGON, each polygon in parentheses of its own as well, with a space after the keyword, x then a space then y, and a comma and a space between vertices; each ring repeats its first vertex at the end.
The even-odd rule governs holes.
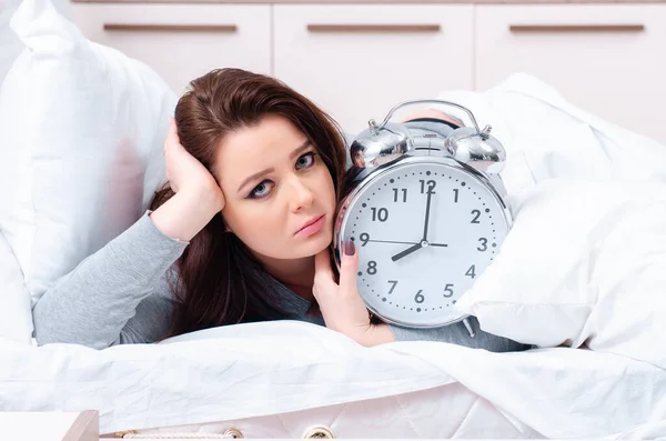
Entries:
POLYGON ((512 227, 500 172, 503 146, 478 128, 463 106, 412 100, 395 106, 381 124, 350 146, 353 190, 334 227, 340 268, 346 240, 359 252, 357 288, 367 309, 385 322, 437 328, 467 315, 456 301, 493 262, 512 227), (410 104, 436 103, 463 110, 472 124, 448 137, 415 134, 393 113, 410 104))

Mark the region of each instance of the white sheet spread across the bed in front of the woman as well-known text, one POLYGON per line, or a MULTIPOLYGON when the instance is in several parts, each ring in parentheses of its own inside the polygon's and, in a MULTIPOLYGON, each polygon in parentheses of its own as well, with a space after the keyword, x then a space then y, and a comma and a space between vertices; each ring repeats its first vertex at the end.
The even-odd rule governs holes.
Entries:
MULTIPOLYGON (((102 433, 283 414, 460 383, 525 433, 598 439, 657 430, 666 437, 666 372, 587 350, 491 353, 436 342, 367 349, 326 328, 286 321, 101 351, 6 341, 0 359, 2 410, 98 409, 102 433)), ((424 424, 440 424, 444 437, 466 415, 424 424)), ((483 428, 488 420, 473 421, 483 428)))

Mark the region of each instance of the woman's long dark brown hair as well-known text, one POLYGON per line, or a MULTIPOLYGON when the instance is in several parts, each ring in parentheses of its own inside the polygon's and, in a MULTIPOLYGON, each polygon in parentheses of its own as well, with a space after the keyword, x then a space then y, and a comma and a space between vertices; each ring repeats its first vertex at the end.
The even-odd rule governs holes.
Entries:
MULTIPOLYGON (((312 101, 283 82, 241 69, 218 69, 193 80, 175 107, 181 144, 211 173, 221 140, 275 114, 291 121, 312 142, 340 196, 346 153, 342 130, 312 101)), ((151 202, 158 209, 174 193, 167 183, 151 202)), ((262 264, 233 233, 222 213, 209 222, 176 261, 171 329, 165 337, 201 329, 284 318, 266 290, 262 264)))

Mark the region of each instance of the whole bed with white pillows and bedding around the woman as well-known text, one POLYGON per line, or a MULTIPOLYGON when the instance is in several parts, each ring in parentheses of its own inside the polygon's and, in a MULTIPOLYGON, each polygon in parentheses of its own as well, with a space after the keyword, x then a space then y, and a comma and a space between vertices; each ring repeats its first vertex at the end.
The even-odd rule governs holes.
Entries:
POLYGON ((37 345, 40 294, 131 224, 163 178, 176 97, 48 0, 24 0, 11 31, 24 48, 0 89, 1 411, 99 410, 111 438, 666 438, 666 147, 521 73, 440 98, 506 147, 516 220, 458 308, 534 349, 369 349, 292 321, 37 345), (78 209, 108 206, 104 186, 121 186, 118 210, 78 209))

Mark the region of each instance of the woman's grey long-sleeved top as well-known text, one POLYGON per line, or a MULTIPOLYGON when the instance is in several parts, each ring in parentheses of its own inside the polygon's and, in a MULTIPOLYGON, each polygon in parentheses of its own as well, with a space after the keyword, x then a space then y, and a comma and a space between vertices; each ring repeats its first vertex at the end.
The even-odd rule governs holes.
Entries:
MULTIPOLYGON (((416 124, 412 127, 416 129, 416 124)), ((438 131, 450 130, 447 127, 438 131)), ((77 343, 103 349, 121 343, 152 343, 169 328, 173 300, 168 284, 175 261, 188 247, 164 235, 148 213, 132 227, 60 278, 33 309, 34 337, 39 344, 77 343)), ((324 325, 321 317, 306 313, 310 302, 266 274, 284 307, 286 320, 324 325)), ((528 347, 483 332, 476 319, 437 329, 390 325, 396 340, 436 340, 490 351, 525 350, 528 347)))

